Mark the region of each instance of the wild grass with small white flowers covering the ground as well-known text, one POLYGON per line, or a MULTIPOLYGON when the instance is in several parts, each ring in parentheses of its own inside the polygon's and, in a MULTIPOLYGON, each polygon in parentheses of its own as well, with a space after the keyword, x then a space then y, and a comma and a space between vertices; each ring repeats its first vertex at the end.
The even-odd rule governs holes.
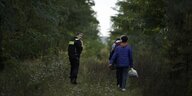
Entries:
POLYGON ((11 60, 0 73, 0 95, 141 96, 141 90, 131 84, 128 91, 121 92, 116 86, 115 71, 107 67, 108 50, 102 49, 99 54, 88 58, 82 55, 78 85, 70 84, 70 65, 65 52, 37 60, 11 60))

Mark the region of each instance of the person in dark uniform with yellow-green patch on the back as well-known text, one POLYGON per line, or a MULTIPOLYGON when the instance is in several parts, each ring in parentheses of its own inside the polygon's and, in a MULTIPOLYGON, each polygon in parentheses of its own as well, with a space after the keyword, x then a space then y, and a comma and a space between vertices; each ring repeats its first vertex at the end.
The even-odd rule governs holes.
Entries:
POLYGON ((77 74, 79 70, 80 55, 83 50, 81 38, 83 33, 78 33, 69 41, 68 56, 71 65, 70 79, 72 84, 77 84, 77 74))

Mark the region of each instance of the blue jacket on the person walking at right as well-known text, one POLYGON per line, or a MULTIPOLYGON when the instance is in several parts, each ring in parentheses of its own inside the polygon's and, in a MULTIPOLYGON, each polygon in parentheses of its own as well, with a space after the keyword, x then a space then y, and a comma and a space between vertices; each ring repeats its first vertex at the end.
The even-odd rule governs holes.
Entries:
POLYGON ((117 62, 117 67, 133 67, 132 49, 130 46, 118 46, 110 59, 110 64, 117 62))

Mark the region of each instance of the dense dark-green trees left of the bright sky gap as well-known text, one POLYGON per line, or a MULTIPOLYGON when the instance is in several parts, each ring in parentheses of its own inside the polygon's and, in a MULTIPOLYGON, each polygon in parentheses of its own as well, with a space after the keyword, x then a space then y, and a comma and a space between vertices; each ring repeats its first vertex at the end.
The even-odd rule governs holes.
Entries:
POLYGON ((75 33, 98 38, 91 0, 1 0, 4 57, 30 59, 66 50, 75 33))

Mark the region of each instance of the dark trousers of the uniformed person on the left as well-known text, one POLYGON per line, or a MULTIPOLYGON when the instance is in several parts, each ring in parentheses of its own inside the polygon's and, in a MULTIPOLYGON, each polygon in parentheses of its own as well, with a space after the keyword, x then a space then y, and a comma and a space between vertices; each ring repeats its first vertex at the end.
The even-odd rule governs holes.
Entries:
POLYGON ((69 58, 69 61, 71 64, 70 78, 76 81, 79 70, 79 58, 69 58))

